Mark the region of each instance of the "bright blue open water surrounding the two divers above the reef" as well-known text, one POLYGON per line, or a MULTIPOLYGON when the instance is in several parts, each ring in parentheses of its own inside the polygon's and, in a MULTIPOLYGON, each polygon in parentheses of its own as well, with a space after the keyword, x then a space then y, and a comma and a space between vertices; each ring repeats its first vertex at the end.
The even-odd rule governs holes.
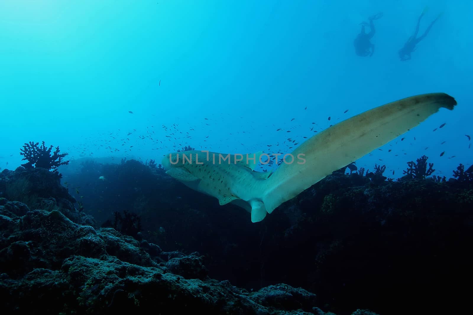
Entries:
POLYGON ((406 162, 425 154, 435 175, 448 178, 472 158, 465 136, 472 135, 472 7, 397 0, 1 1, 0 167, 16 168, 23 143, 42 140, 70 160, 159 161, 185 145, 246 153, 271 152, 279 143, 290 153, 292 140, 301 143, 362 111, 445 92, 458 102, 454 111, 442 109, 357 165, 385 164, 398 178, 406 162), (412 60, 402 62, 397 51, 426 6, 419 34, 443 15, 412 60), (376 50, 359 57, 353 40, 377 12, 384 16, 375 20, 376 50))

